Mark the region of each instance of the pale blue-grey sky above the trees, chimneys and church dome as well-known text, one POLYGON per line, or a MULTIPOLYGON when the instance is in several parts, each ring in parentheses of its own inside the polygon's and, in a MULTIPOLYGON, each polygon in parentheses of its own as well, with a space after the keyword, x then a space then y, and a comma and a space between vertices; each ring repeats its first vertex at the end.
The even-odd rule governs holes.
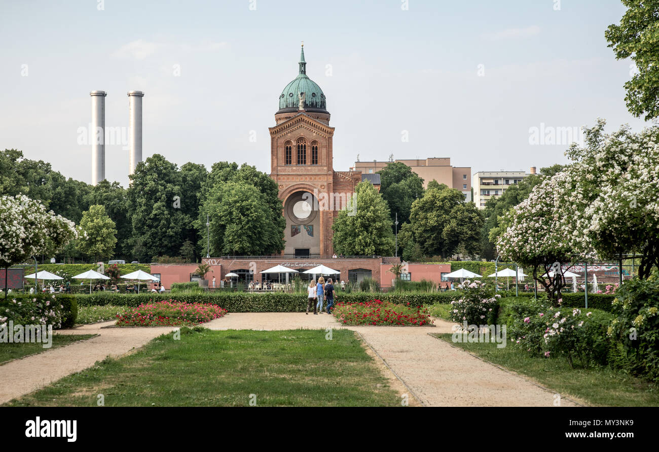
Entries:
MULTIPOLYGON (((89 92, 108 93, 106 127, 127 127, 127 92, 142 90, 144 158, 270 173, 268 127, 301 41, 306 73, 328 98, 337 171, 357 154, 528 171, 567 162, 567 144, 530 145, 532 127, 645 125, 625 107, 631 61, 616 61, 604 38, 625 11, 619 0, 407 5, 0 1, 0 146, 90 182, 91 146, 78 144, 89 92)), ((126 186, 128 150, 105 154, 106 178, 126 186)))

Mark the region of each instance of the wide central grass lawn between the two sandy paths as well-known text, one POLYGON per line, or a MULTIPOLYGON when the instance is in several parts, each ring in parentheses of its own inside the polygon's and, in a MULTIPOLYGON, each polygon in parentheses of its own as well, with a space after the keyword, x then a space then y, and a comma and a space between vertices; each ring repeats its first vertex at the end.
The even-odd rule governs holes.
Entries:
POLYGON ((182 328, 9 406, 401 406, 356 333, 182 328))

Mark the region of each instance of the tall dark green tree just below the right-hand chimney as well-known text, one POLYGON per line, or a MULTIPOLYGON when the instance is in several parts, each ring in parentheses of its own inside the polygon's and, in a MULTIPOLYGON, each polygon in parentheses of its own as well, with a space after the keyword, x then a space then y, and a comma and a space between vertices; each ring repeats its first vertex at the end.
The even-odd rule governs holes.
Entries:
POLYGON ((137 164, 130 179, 127 197, 134 257, 145 261, 152 256, 176 255, 192 221, 175 198, 182 193, 177 166, 154 154, 137 164))

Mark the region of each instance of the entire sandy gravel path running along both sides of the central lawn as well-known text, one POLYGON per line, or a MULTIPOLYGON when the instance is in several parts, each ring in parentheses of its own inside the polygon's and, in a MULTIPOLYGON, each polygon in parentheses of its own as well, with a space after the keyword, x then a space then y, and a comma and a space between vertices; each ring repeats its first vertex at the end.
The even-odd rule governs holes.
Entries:
MULTIPOLYGON (((59 331, 99 334, 93 339, 28 356, 0 366, 0 404, 93 366, 107 356, 129 353, 173 331, 172 327, 103 328, 114 321, 59 331), (7 382, 11 381, 11 384, 7 382)), ((328 314, 232 313, 204 324, 214 330, 327 329, 357 331, 369 354, 399 393, 411 393, 411 405, 424 406, 553 406, 554 393, 529 379, 484 362, 428 333, 451 333, 451 323, 435 327, 343 326, 328 314)), ((561 406, 575 406, 565 397, 561 406)))

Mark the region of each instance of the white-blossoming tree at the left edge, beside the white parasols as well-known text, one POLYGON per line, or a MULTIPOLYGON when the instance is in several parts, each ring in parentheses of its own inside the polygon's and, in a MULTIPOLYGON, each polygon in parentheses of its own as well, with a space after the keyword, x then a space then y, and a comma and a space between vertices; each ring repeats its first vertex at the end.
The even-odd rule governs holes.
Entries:
MULTIPOLYGON (((0 267, 58 251, 76 236, 75 225, 25 195, 0 197, 0 267)), ((5 297, 7 284, 5 284, 5 297)))

